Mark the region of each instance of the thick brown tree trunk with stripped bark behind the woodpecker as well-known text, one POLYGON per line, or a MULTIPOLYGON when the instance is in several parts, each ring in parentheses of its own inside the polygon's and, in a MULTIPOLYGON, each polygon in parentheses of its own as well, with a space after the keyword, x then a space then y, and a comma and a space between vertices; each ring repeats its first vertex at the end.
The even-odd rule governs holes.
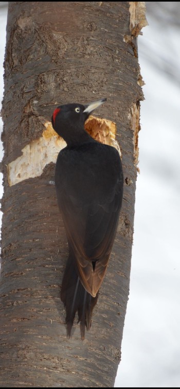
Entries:
POLYGON ((143 98, 136 36, 146 24, 143 7, 143 2, 9 2, 2 136, 2 386, 114 385, 129 295, 143 98), (103 97, 107 103, 99 114, 118 128, 124 195, 92 328, 82 342, 76 323, 73 336, 66 338, 60 300, 68 247, 55 186, 49 182, 63 145, 43 123, 57 105, 103 97))

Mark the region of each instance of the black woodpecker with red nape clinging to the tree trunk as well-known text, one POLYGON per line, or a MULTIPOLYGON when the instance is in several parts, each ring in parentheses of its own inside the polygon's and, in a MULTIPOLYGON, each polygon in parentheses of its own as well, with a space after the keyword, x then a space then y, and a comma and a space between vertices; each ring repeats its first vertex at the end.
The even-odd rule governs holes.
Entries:
POLYGON ((91 328, 123 196, 118 151, 93 139, 84 128, 88 116, 105 101, 60 105, 51 119, 53 129, 66 142, 55 168, 57 200, 69 248, 61 300, 66 310, 67 338, 78 312, 82 340, 85 329, 91 328))

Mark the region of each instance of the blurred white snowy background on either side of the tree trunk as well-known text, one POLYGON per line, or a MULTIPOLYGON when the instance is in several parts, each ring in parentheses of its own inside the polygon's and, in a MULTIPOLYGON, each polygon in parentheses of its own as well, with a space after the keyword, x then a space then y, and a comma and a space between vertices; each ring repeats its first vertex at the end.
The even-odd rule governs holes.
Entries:
MULTIPOLYGON (((180 385, 180 6, 176 9, 177 4, 180 3, 147 2, 149 26, 138 37, 146 100, 141 102, 140 174, 136 184, 130 296, 115 387, 180 385), (165 9, 161 8, 165 4, 165 9), (152 12, 155 6, 156 16, 152 12)), ((6 18, 7 2, 0 2, 0 101, 6 18)), ((1 131, 2 126, 0 120, 1 131)), ((1 158, 2 155, 1 145, 1 158)), ((2 195, 2 187, 0 190, 2 195)))

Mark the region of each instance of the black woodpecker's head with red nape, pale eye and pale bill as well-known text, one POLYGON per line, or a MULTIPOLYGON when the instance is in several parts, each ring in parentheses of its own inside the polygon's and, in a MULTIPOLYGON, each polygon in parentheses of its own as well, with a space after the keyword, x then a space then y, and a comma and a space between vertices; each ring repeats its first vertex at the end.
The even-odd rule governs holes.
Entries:
POLYGON ((57 107, 52 114, 52 127, 67 143, 69 139, 78 137, 84 131, 84 123, 88 116, 106 99, 82 105, 78 103, 65 104, 57 107))

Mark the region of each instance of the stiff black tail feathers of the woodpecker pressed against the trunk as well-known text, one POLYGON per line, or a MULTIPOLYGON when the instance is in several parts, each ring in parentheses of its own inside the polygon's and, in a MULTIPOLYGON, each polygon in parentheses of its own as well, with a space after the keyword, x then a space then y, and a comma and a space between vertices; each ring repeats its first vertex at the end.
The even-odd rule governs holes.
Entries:
POLYGON ((78 323, 80 322, 81 339, 83 340, 85 327, 87 330, 91 328, 91 318, 93 308, 98 300, 98 293, 96 297, 92 297, 84 289, 77 275, 74 260, 70 255, 64 271, 61 300, 66 308, 67 337, 70 337, 71 328, 73 327, 75 315, 78 311, 78 323))

